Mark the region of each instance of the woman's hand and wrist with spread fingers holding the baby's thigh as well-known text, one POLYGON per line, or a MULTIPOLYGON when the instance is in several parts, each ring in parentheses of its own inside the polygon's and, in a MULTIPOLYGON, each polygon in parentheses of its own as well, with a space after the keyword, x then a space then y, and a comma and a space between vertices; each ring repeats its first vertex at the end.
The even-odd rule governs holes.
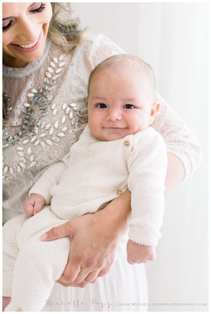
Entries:
POLYGON ((116 247, 127 232, 130 212, 130 192, 126 190, 95 214, 72 219, 41 236, 43 241, 70 238, 68 263, 57 282, 64 286, 84 287, 108 273, 116 247))

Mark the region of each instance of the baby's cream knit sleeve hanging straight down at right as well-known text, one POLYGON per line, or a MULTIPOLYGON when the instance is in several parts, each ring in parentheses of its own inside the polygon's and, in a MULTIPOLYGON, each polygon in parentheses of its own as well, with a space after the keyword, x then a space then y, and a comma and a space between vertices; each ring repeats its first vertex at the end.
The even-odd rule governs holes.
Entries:
POLYGON ((139 244, 156 246, 161 236, 167 156, 160 134, 148 129, 134 145, 127 161, 132 208, 129 238, 139 244))

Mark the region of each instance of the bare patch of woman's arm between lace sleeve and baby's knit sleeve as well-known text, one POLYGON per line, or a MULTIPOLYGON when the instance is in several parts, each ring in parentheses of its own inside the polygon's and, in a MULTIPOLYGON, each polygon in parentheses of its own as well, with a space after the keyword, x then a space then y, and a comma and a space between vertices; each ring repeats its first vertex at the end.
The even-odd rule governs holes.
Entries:
POLYGON ((185 167, 182 161, 176 155, 171 153, 167 153, 167 158, 168 166, 165 176, 165 198, 169 196, 185 177, 185 167))

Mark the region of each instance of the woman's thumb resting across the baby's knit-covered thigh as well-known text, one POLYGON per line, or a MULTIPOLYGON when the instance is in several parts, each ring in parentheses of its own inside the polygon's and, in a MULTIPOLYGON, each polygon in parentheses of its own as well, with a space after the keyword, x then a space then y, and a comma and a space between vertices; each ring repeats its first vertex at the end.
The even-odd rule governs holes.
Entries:
POLYGON ((40 239, 42 241, 51 241, 51 240, 63 238, 65 236, 70 237, 70 235, 71 235, 71 230, 70 230, 70 225, 68 221, 61 226, 51 228, 48 232, 44 233, 40 237, 40 239))

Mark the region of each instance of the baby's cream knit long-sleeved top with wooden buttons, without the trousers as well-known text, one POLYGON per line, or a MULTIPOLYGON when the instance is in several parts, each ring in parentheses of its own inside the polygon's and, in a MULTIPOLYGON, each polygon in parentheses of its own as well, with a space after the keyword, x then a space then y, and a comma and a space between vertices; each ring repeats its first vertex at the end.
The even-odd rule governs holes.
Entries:
POLYGON ((43 196, 61 219, 94 213, 118 197, 127 186, 132 192, 132 241, 156 246, 164 209, 166 147, 153 128, 103 142, 87 125, 61 162, 51 166, 29 194, 43 196), (128 142, 128 145, 125 145, 128 142))

